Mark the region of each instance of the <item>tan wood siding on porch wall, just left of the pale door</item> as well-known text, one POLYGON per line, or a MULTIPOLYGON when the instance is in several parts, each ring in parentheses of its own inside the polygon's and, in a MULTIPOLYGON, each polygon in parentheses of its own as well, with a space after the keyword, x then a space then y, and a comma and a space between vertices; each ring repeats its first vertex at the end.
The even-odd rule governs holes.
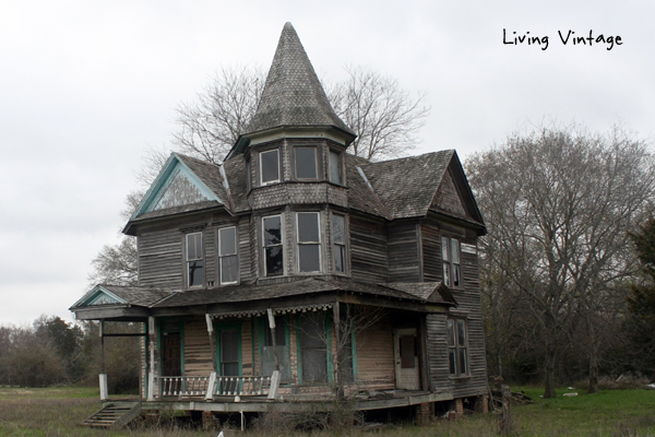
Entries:
POLYGON ((356 343, 359 388, 393 390, 395 388, 395 365, 391 319, 385 317, 357 332, 356 343))

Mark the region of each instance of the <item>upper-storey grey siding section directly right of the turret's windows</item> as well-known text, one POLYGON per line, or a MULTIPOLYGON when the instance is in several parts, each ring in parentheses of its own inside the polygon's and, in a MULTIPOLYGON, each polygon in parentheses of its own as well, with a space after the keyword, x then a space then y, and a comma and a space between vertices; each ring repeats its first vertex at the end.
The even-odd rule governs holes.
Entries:
POLYGON ((389 282, 386 228, 383 221, 350 214, 350 265, 353 280, 389 282))

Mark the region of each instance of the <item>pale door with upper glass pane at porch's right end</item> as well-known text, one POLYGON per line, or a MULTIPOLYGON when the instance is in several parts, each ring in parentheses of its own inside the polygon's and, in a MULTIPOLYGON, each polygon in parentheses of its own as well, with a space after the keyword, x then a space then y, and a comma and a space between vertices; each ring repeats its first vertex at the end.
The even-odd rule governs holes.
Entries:
POLYGON ((396 389, 419 390, 418 338, 416 328, 394 330, 396 389))

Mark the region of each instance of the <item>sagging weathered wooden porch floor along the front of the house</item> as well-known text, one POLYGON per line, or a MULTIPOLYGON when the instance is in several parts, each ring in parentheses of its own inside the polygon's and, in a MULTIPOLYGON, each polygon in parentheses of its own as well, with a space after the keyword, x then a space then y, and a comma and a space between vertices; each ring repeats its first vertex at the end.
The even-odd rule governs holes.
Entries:
MULTIPOLYGON (((410 390, 385 390, 372 394, 357 394, 346 398, 355 411, 393 409, 421 403, 450 401, 453 393, 410 390)), ((124 401, 127 403, 127 401, 124 401)), ((106 401, 103 405, 119 405, 121 401, 106 401)), ((133 401, 132 401, 133 403, 133 401)), ((216 413, 294 413, 300 411, 331 411, 338 405, 334 395, 325 394, 284 394, 278 400, 266 397, 216 397, 213 401, 204 398, 168 398, 156 401, 141 401, 142 411, 206 411, 216 413)))

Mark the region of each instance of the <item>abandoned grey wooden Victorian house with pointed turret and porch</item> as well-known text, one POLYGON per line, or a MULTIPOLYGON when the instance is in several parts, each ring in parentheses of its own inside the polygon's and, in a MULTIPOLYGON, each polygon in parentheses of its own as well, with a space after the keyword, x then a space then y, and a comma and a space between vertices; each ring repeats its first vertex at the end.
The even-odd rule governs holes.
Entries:
POLYGON ((138 286, 71 307, 141 323, 136 409, 486 410, 486 228, 457 154, 369 162, 355 138, 287 23, 223 164, 171 154, 124 226, 138 286))

